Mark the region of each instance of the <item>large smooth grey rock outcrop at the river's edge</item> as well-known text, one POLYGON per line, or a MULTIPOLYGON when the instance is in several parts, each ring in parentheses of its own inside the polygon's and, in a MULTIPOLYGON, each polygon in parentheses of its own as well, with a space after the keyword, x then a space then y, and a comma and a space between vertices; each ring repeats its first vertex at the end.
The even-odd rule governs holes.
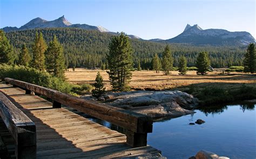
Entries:
MULTIPOLYGON (((83 97, 90 99, 91 97, 83 97)), ((153 118, 180 117, 192 114, 198 99, 181 91, 131 91, 109 93, 99 99, 126 110, 150 115, 153 118)))

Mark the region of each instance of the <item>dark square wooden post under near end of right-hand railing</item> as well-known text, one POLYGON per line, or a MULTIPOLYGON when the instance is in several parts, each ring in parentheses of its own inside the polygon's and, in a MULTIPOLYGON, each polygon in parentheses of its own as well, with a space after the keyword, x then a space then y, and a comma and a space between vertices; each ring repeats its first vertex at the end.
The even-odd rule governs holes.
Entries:
POLYGON ((131 147, 147 146, 147 133, 134 133, 127 130, 126 143, 131 147))

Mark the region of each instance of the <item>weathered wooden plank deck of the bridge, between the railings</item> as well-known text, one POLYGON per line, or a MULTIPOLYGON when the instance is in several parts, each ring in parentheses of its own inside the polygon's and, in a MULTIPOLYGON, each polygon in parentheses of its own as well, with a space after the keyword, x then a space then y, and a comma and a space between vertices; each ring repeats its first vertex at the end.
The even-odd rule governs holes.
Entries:
POLYGON ((151 146, 132 148, 124 134, 99 125, 9 84, 0 91, 36 124, 37 158, 122 158, 157 154, 151 146))

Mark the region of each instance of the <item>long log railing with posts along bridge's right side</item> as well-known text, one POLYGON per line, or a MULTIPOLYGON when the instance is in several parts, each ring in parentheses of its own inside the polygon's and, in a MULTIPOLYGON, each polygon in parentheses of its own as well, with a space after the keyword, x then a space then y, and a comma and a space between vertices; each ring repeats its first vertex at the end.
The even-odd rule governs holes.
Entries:
POLYGON ((5 82, 25 90, 26 93, 31 93, 31 91, 33 91, 39 95, 52 99, 52 106, 54 108, 61 107, 63 104, 91 115, 92 117, 125 128, 126 143, 132 147, 146 146, 147 133, 152 133, 153 120, 147 115, 120 109, 92 100, 81 99, 43 86, 18 81, 12 78, 5 78, 5 82))

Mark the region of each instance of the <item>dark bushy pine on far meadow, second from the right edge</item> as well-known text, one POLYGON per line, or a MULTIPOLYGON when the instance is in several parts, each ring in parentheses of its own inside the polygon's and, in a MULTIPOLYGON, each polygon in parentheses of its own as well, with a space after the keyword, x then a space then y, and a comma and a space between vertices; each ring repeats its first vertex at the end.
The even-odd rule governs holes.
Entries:
POLYGON ((196 67, 198 68, 198 75, 205 75, 210 66, 210 60, 207 52, 200 52, 197 57, 196 67))

